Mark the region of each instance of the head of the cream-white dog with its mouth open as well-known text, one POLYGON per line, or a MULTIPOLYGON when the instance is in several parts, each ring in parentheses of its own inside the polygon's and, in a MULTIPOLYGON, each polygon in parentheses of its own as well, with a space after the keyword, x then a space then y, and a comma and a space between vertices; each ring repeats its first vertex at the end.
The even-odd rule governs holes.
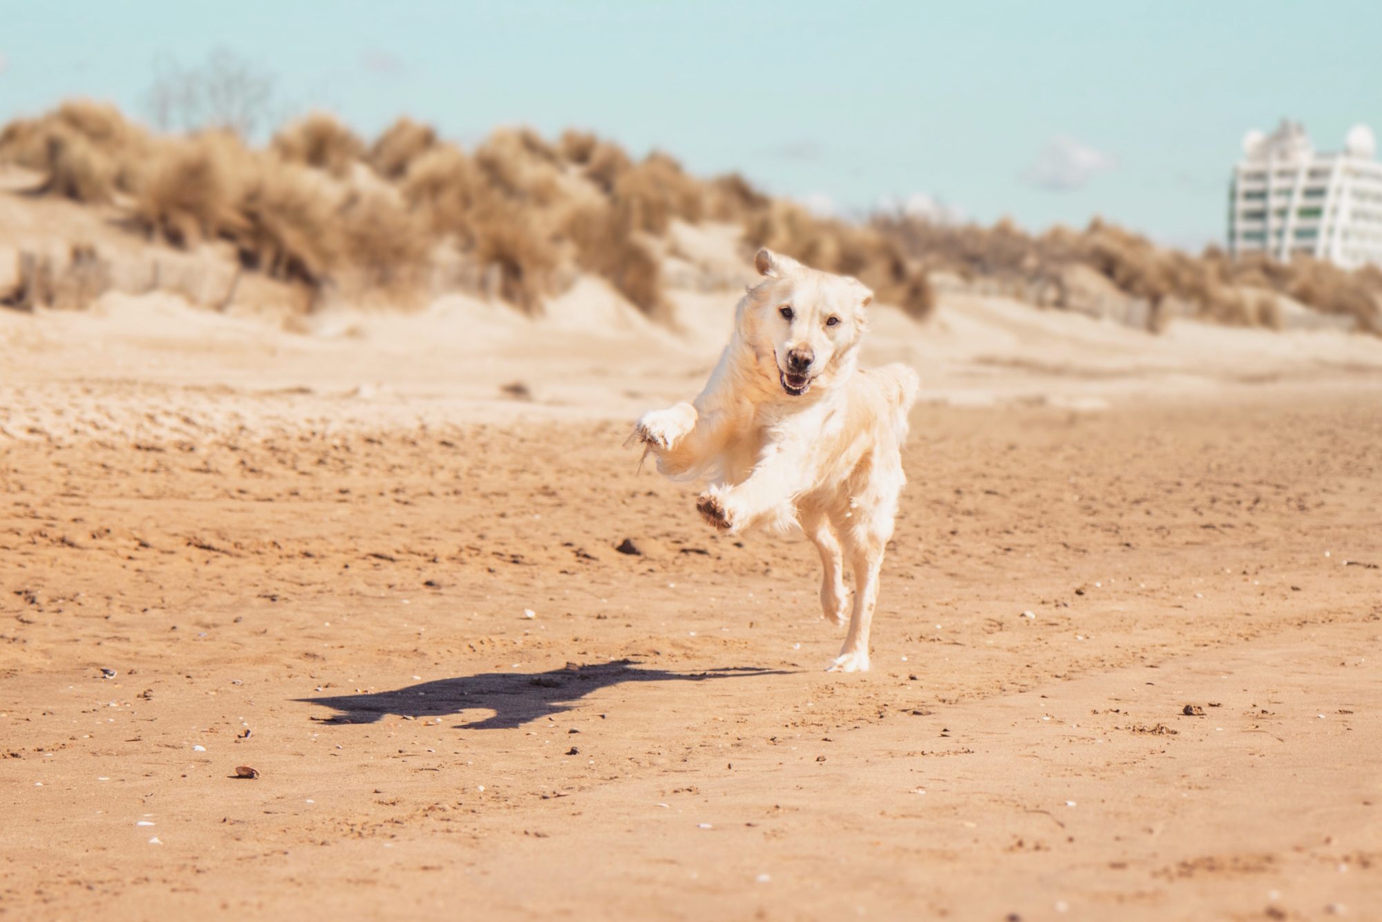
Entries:
POLYGON ((749 289, 739 332, 764 364, 771 357, 782 390, 802 397, 853 370, 873 292, 855 278, 820 272, 767 249, 753 264, 764 281, 749 289))

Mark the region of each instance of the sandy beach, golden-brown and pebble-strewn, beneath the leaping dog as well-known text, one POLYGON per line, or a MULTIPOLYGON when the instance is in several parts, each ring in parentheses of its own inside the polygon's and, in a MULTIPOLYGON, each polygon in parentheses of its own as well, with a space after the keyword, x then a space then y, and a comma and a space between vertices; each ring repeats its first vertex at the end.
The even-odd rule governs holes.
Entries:
POLYGON ((571 299, 0 311, 0 916, 1376 911, 1375 339, 879 308, 837 676, 804 539, 621 446, 732 294, 571 299))

